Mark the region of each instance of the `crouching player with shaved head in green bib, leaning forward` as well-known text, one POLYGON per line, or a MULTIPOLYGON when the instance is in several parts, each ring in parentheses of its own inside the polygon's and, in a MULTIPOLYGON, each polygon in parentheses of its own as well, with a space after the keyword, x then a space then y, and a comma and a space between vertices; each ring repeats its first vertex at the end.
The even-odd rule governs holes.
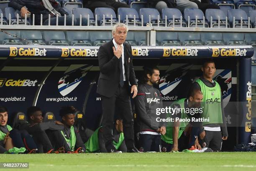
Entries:
MULTIPOLYGON (((191 92, 191 94, 189 95, 189 98, 186 99, 180 99, 177 100, 175 102, 172 103, 172 107, 173 108, 177 108, 177 109, 187 109, 187 108, 200 108, 201 102, 202 102, 202 92, 197 89, 194 90, 193 92, 191 92)), ((199 113, 199 112, 198 112, 199 113)), ((167 114, 167 117, 171 117, 170 114, 167 114)), ((184 110, 180 110, 179 112, 176 113, 176 115, 174 114, 174 120, 176 117, 179 117, 180 119, 186 119, 186 118, 191 118, 191 117, 198 117, 196 116, 192 116, 189 113, 184 112, 184 110)), ((192 119, 191 119, 192 120, 192 119)), ((194 125, 195 127, 192 127, 192 131, 190 133, 190 142, 189 144, 192 144, 197 147, 197 149, 201 149, 201 146, 198 143, 198 134, 199 134, 199 127, 198 124, 195 125, 194 123, 191 122, 192 125, 194 125)), ((189 125, 189 122, 179 122, 179 120, 177 122, 174 122, 173 126, 168 126, 166 127, 166 134, 165 135, 161 135, 161 140, 162 140, 162 151, 178 151, 178 139, 180 138, 180 136, 182 135, 182 133, 184 132, 185 128, 189 125)), ((189 145, 188 148, 191 148, 191 146, 189 145)))

